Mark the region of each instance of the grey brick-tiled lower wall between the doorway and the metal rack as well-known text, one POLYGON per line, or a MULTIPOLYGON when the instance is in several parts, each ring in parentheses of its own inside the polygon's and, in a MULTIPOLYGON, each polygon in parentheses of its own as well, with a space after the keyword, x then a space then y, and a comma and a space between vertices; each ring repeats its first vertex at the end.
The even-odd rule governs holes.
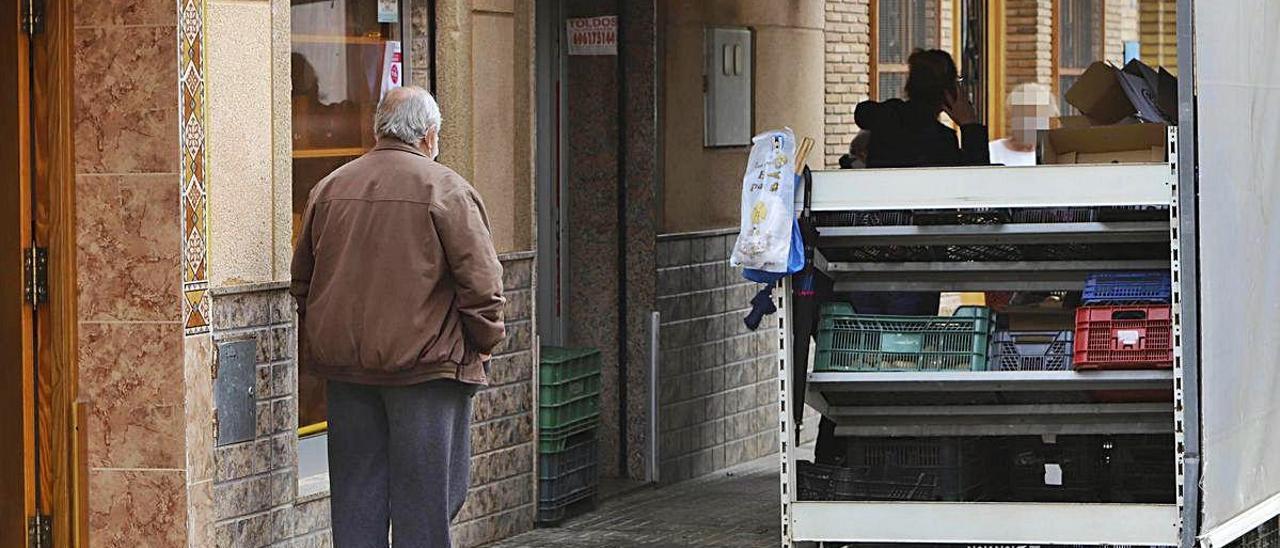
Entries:
POLYGON ((776 332, 742 324, 758 286, 728 266, 735 238, 736 230, 658 239, 663 483, 777 449, 776 332))

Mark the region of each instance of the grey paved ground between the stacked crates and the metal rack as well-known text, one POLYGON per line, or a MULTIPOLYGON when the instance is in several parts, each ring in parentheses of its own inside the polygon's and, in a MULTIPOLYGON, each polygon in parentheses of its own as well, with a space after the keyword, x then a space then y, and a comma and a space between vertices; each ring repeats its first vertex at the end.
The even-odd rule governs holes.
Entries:
POLYGON ((490 548, 777 545, 777 470, 774 455, 660 489, 646 488, 559 528, 538 529, 490 548))

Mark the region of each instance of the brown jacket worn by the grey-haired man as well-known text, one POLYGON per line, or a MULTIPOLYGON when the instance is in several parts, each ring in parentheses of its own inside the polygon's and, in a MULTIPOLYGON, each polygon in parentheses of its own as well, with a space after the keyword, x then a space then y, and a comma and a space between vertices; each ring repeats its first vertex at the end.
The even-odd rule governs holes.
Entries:
POLYGON ((311 191, 293 255, 303 369, 360 384, 488 383, 502 265, 475 188, 392 138, 311 191))

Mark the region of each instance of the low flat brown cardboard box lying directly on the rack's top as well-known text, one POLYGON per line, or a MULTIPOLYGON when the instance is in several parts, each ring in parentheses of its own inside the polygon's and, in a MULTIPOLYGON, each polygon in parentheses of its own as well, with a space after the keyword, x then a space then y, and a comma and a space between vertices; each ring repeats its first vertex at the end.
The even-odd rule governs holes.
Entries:
POLYGON ((1129 124, 1041 132, 1041 164, 1142 164, 1166 161, 1169 127, 1129 124))

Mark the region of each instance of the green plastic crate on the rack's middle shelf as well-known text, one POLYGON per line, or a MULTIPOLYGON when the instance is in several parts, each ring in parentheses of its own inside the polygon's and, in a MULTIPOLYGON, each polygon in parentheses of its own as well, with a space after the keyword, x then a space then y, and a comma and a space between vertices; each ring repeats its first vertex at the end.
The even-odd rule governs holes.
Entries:
POLYGON ((827 305, 814 371, 984 371, 993 328, 982 306, 954 316, 878 316, 827 305))

